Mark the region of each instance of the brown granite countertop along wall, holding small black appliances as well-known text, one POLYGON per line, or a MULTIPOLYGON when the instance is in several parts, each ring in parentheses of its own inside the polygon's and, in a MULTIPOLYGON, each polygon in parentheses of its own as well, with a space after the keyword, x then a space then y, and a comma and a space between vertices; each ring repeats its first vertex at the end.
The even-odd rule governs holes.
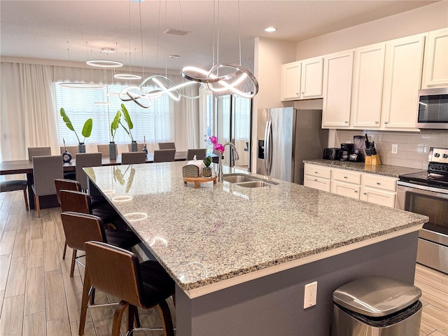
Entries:
POLYGON ((402 174, 412 174, 416 172, 422 172, 423 170, 425 170, 425 169, 416 169, 416 168, 389 166, 389 165, 372 166, 372 165, 365 165, 364 162, 349 162, 349 161, 323 160, 323 159, 303 160, 303 162, 312 163, 313 165, 354 170, 355 172, 372 173, 397 178, 399 175, 402 174))

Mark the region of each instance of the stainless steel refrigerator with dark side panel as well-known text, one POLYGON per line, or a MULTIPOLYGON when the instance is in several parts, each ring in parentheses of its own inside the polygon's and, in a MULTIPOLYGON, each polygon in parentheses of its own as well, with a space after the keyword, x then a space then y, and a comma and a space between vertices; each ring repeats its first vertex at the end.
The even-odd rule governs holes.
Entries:
POLYGON ((258 110, 257 174, 303 184, 303 160, 321 159, 328 130, 322 110, 258 110))

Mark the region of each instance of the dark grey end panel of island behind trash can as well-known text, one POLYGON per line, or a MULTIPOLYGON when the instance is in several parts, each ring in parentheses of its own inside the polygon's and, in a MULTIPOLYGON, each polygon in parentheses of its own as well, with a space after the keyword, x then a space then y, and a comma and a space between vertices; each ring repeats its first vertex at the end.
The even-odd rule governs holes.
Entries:
POLYGON ((190 299, 176 286, 177 336, 330 335, 332 293, 363 276, 414 283, 418 232, 190 299), (317 304, 303 309, 304 285, 317 304))

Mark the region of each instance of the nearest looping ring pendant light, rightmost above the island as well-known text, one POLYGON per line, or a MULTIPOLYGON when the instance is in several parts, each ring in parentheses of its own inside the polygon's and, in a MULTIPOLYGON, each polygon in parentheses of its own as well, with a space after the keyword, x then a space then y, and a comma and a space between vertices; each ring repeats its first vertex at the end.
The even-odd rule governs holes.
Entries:
MULTIPOLYGON (((215 6, 214 6, 214 22, 215 22, 215 6)), ((217 63, 213 59, 214 66, 209 71, 198 68, 196 66, 183 67, 181 74, 183 78, 193 80, 199 83, 207 83, 207 86, 212 92, 225 92, 230 90, 231 92, 238 94, 244 98, 255 97, 258 93, 258 81, 253 76, 251 71, 241 66, 241 28, 240 28, 240 15, 239 15, 239 1, 238 1, 238 27, 239 27, 239 64, 233 63, 219 63, 219 0, 218 0, 218 43, 217 43, 217 63), (220 72, 221 71, 221 75, 220 72), (224 71, 224 74, 223 74, 224 71), (251 86, 251 92, 243 92, 238 89, 242 83, 247 83, 251 86)), ((214 28, 215 29, 215 28, 214 28)), ((214 34, 215 36, 215 34, 214 34)), ((215 37, 214 37, 215 38, 215 37)), ((215 52, 215 48, 213 48, 215 52)), ((214 58, 214 57, 213 57, 214 58)))

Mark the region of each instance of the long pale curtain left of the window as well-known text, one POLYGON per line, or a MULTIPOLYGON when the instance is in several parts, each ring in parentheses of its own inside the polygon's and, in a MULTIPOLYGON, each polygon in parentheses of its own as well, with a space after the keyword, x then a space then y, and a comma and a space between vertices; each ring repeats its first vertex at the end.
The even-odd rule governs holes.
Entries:
POLYGON ((27 158, 28 147, 59 153, 52 66, 1 62, 0 160, 27 158))

